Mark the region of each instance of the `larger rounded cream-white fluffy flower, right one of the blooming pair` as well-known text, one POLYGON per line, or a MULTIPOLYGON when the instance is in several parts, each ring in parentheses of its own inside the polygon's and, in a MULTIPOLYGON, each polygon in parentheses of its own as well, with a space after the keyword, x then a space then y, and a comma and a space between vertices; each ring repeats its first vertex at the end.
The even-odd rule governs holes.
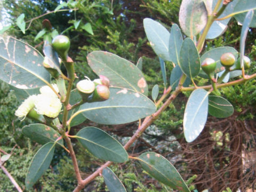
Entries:
POLYGON ((35 110, 38 114, 55 118, 61 111, 61 101, 54 95, 38 94, 35 101, 35 110))

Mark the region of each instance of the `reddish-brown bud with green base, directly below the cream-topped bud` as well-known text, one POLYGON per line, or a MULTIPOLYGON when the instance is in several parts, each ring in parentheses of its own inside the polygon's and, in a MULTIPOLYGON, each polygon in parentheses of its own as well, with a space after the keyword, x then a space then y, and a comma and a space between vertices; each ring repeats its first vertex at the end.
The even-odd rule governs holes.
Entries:
POLYGON ((97 85, 87 102, 105 101, 109 98, 110 91, 106 85, 97 85))

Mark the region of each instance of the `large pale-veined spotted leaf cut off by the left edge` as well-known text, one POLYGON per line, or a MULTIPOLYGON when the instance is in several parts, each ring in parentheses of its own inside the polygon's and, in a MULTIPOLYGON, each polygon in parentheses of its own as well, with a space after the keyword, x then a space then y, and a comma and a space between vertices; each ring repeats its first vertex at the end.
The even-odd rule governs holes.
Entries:
POLYGON ((19 89, 49 84, 43 56, 32 46, 13 37, 0 37, 0 79, 19 89))

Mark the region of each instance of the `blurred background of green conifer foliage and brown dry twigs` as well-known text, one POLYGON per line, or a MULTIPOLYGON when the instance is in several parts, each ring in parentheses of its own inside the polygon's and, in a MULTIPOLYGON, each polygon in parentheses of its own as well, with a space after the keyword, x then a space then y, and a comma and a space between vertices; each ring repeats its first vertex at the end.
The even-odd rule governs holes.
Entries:
MULTIPOLYGON (((49 19, 54 29, 59 33, 64 31, 64 34, 70 37, 70 57, 75 58, 76 71, 79 71, 77 73, 78 77, 83 77, 83 74, 86 74, 90 78, 95 78, 95 74, 92 73, 86 62, 86 55, 92 51, 109 51, 133 63, 137 63, 138 59, 143 56, 142 71, 146 74, 149 90, 152 90, 153 86, 158 84, 160 92, 163 92, 163 80, 162 76, 159 75, 161 73, 159 60, 147 42, 142 20, 146 17, 152 18, 165 23, 165 27, 170 29, 172 23, 178 23, 180 3, 180 0, 85 0, 81 5, 78 5, 79 10, 77 11, 47 14, 34 20, 25 35, 18 27, 11 28, 8 33, 16 38, 23 39, 42 51, 43 39, 39 38, 34 41, 34 37, 42 30, 42 21, 49 19), (101 5, 101 7, 92 6, 93 3, 101 5), (106 10, 113 10, 113 14, 106 12, 106 10), (84 23, 90 22, 93 35, 83 29, 70 29, 75 20, 82 20, 84 23)), ((21 13, 25 13, 26 21, 29 21, 47 11, 53 11, 59 4, 60 1, 58 0, 6 0, 3 7, 10 14, 11 22, 14 23, 21 13)), ((63 9, 65 8, 67 7, 63 7, 63 9)), ((239 50, 239 35, 242 27, 238 26, 234 19, 231 19, 229 26, 223 36, 206 42, 205 51, 219 46, 233 46, 239 50)), ((255 32, 255 28, 250 29, 246 43, 246 54, 254 61, 256 60, 255 32)), ((255 62, 252 63, 253 67, 249 74, 255 73, 255 64, 255 62)), ((166 62, 166 69, 172 67, 171 62, 166 62)), ((170 77, 168 71, 171 70, 167 70, 167 80, 170 77)), ((198 78, 196 81, 198 84, 203 84, 204 80, 198 78)), ((191 180, 193 180, 198 191, 206 188, 212 188, 213 191, 222 191, 227 187, 233 190, 239 187, 244 191, 245 188, 251 188, 253 183, 251 176, 254 171, 252 163, 255 161, 255 155, 253 156, 252 153, 255 150, 255 132, 253 131, 256 105, 255 79, 243 85, 222 89, 222 94, 234 106, 235 114, 224 120, 209 117, 206 129, 193 144, 185 142, 181 129, 183 110, 189 95, 189 93, 186 93, 179 95, 179 98, 169 106, 168 110, 164 111, 154 125, 149 127, 129 152, 139 155, 142 151, 150 148, 152 151, 161 153, 174 163, 186 180, 191 179, 194 174, 197 175, 197 178, 193 177, 191 180), (239 142, 237 142, 237 137, 241 139, 239 142), (246 157, 247 162, 242 157, 246 157), (246 166, 244 166, 245 164, 246 166), (214 170, 218 172, 216 173, 214 170), (220 178, 219 174, 223 177, 220 178), (223 183, 223 180, 226 182, 223 183)), ((15 95, 5 83, 1 83, 0 98, 0 148, 10 153, 15 146, 13 155, 6 162, 5 167, 18 181, 19 185, 24 188, 28 162, 31 161, 39 146, 27 140, 21 134, 21 127, 26 122, 20 123, 17 119, 13 119, 18 103, 15 95)), ((137 129, 137 123, 102 126, 86 121, 84 125, 98 126, 123 141, 126 137, 132 135, 132 131, 137 129)), ((81 127, 77 126, 73 131, 78 132, 81 127)), ((79 145, 79 143, 77 142, 76 145, 79 145)), ((81 148, 77 147, 75 149, 79 150, 81 148)), ((38 191, 70 191, 74 188, 76 181, 71 159, 68 157, 62 158, 65 151, 57 150, 58 155, 54 156, 51 169, 36 185, 38 191)), ((79 150, 76 152, 84 178, 86 174, 97 169, 100 161, 90 156, 87 151, 79 150), (85 156, 86 161, 84 161, 85 156)), ((134 170, 133 162, 121 165, 118 168, 111 167, 113 171, 121 170, 118 177, 124 181, 127 191, 170 191, 146 174, 134 174, 141 172, 141 170, 134 170)), ((11 182, 3 172, 0 172, 0 179, 3 181, 0 191, 13 190, 11 182)), ((106 190, 102 178, 98 178, 85 188, 85 191, 106 190)))

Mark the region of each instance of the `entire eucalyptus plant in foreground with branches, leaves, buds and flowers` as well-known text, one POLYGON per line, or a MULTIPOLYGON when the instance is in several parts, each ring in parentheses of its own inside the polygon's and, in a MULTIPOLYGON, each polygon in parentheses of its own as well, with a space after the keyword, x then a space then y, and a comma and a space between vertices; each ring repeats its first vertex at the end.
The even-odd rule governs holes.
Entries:
MULTIPOLYGON (((91 81, 85 74, 84 79, 79 79, 74 85, 75 62, 68 56, 70 41, 67 36, 57 35, 52 42, 46 38, 42 55, 25 42, 2 35, 0 79, 9 83, 17 97, 24 100, 15 115, 21 120, 31 118, 35 121, 35 124, 23 127, 22 133, 42 145, 30 163, 26 187, 34 186, 50 166, 55 147, 62 147, 73 161, 77 179, 74 191, 81 191, 99 175, 104 178, 109 191, 126 191, 108 166, 129 159, 138 161, 143 170, 163 185, 190 191, 175 167, 162 155, 146 152, 135 157, 129 156, 126 150, 181 92, 191 92, 183 117, 187 142, 193 142, 199 136, 208 114, 226 118, 234 113, 233 106, 221 97, 219 90, 256 77, 256 74, 246 74, 251 61, 244 55, 249 27, 256 27, 255 9, 256 1, 251 0, 183 0, 179 12, 181 29, 174 23, 170 32, 161 23, 145 18, 145 32, 159 57, 165 87, 161 97, 158 97, 158 85, 153 87, 153 101, 148 98, 141 60, 134 65, 113 53, 94 51, 87 55, 87 62, 99 78, 91 81), (222 35, 231 17, 243 25, 240 49, 224 46, 201 54, 206 39, 222 35), (174 66, 170 82, 166 78, 165 61, 174 66), (67 75, 61 66, 66 68, 67 75), (208 79, 208 84, 198 86, 198 78, 208 79), (71 135, 72 127, 85 119, 106 125, 139 121, 139 126, 122 146, 97 127, 84 127, 71 135), (85 179, 79 172, 71 138, 80 142, 93 156, 106 161, 85 179)), ((24 31, 22 17, 17 22, 24 31)))

